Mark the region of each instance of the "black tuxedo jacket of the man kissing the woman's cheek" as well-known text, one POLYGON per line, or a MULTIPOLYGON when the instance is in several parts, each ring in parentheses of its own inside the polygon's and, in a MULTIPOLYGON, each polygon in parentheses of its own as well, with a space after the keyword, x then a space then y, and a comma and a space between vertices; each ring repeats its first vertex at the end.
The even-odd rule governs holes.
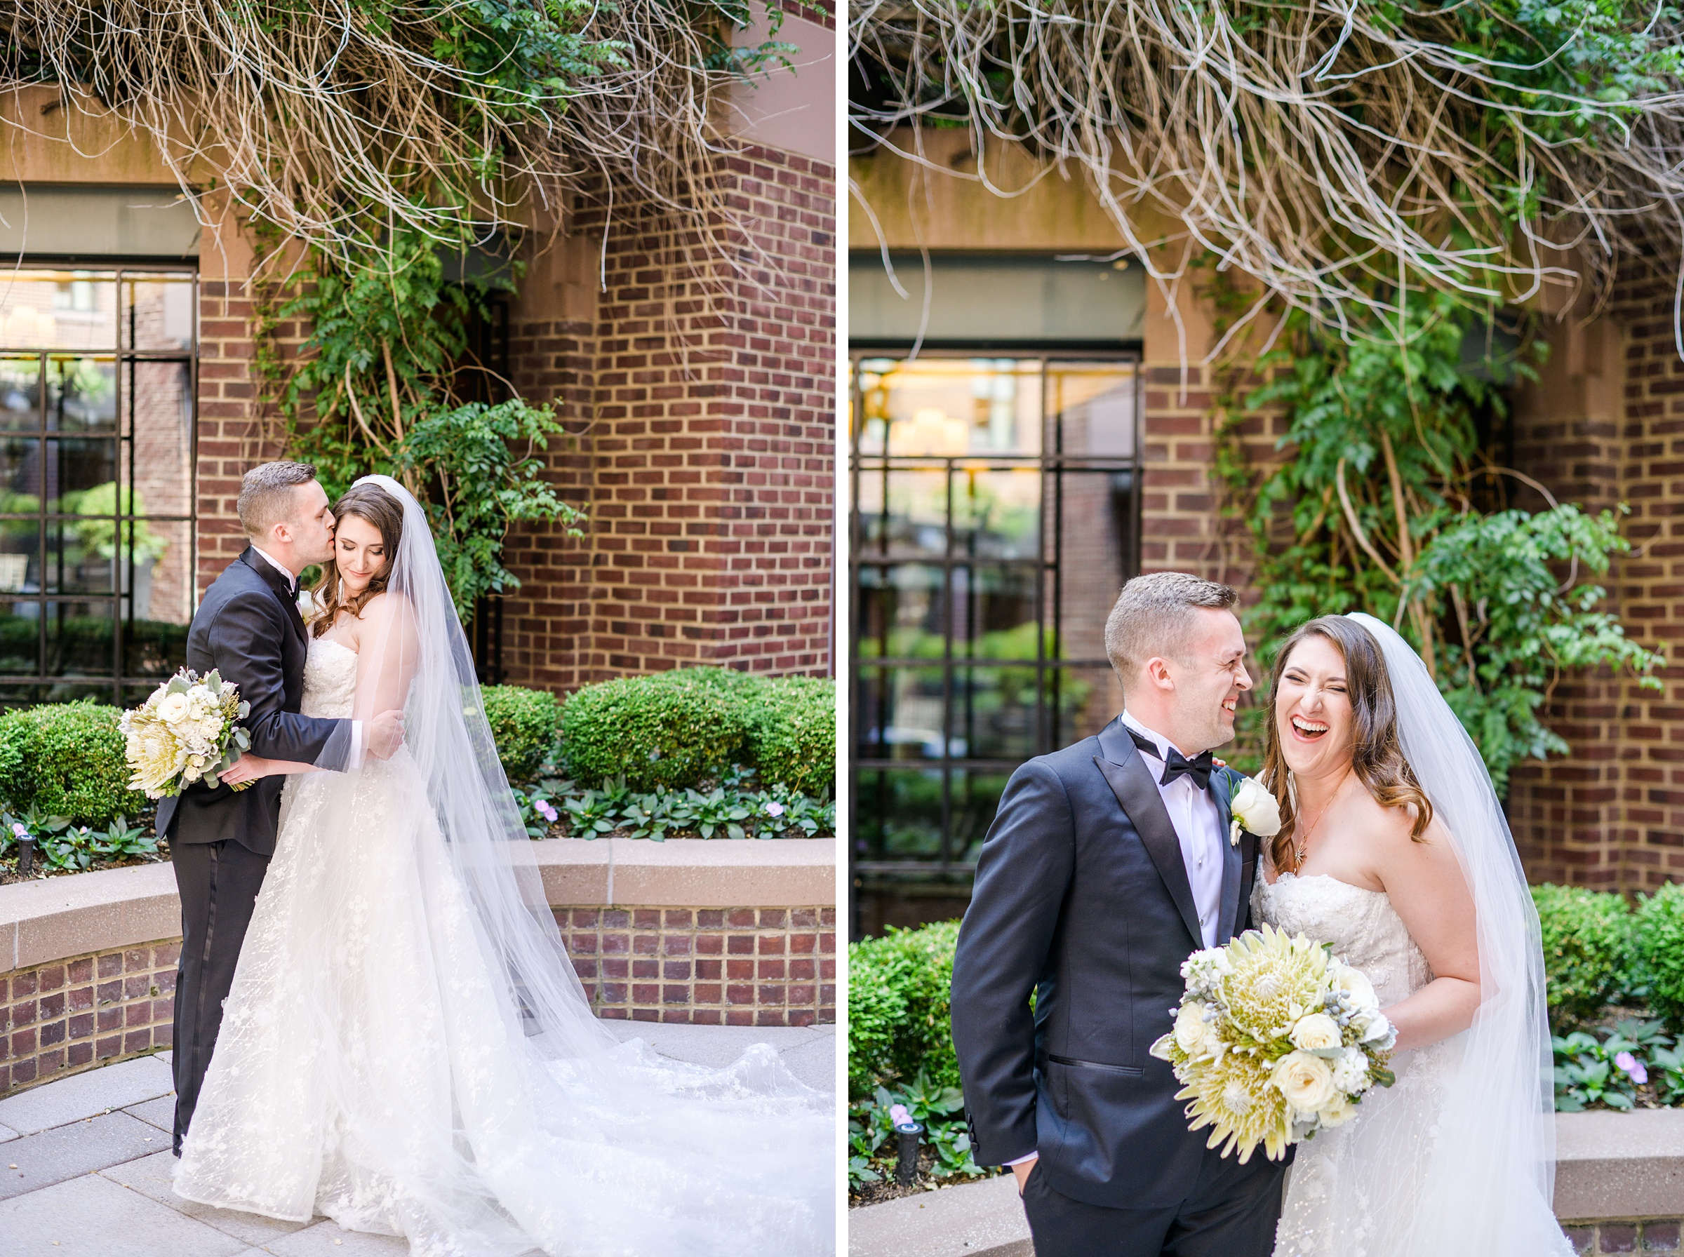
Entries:
MULTIPOLYGON (((344 767, 350 759, 350 720, 300 715, 310 641, 286 577, 249 545, 205 591, 187 631, 187 666, 216 668, 251 703, 251 750, 344 767)), ((286 777, 261 777, 242 791, 189 786, 158 803, 158 833, 172 843, 232 840, 258 855, 274 855, 286 777)))

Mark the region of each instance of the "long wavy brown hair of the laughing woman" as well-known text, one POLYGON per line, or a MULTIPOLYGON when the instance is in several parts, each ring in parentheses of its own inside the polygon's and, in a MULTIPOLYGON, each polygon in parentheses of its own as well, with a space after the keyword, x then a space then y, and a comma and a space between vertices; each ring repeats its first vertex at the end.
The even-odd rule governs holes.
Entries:
POLYGON ((1292 663, 1292 653, 1305 638, 1325 638, 1346 660, 1346 697, 1351 700, 1351 769, 1383 808, 1415 808, 1410 838, 1423 841, 1421 835, 1433 821, 1433 804, 1415 779, 1415 769, 1403 756, 1398 739, 1398 703, 1391 693, 1391 675, 1386 656, 1381 655, 1374 634, 1349 616, 1320 616, 1300 624, 1287 638, 1275 656, 1270 675, 1268 722, 1263 732, 1263 772, 1258 781, 1280 803, 1280 833, 1270 840, 1270 860, 1275 868, 1287 868, 1292 857, 1292 835, 1297 828, 1292 791, 1287 788, 1292 772, 1280 752, 1280 732, 1275 722, 1275 697, 1280 678, 1292 663))

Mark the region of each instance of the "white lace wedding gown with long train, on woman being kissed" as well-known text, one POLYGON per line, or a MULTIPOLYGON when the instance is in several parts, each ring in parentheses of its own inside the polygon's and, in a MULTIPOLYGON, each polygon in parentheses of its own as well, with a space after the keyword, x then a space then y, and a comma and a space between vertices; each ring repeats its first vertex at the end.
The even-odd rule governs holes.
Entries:
MULTIPOLYGON (((312 641, 306 715, 357 661, 312 641)), ((418 1257, 832 1252, 834 1099, 765 1047, 536 1050, 434 806, 408 747, 288 781, 177 1193, 418 1257)))

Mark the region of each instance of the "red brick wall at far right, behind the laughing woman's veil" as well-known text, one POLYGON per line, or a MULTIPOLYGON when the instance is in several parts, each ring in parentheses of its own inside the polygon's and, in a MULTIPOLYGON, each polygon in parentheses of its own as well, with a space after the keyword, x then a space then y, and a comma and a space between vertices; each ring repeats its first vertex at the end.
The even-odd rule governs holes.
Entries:
MULTIPOLYGON (((1564 501, 1630 505, 1635 552, 1600 584, 1630 636, 1677 655, 1684 362, 1672 294, 1671 278, 1632 273, 1598 325, 1554 330, 1546 375, 1517 409, 1516 461, 1564 501)), ((1660 676, 1659 695, 1607 671, 1566 676, 1554 692, 1544 720, 1571 756, 1516 769, 1509 791, 1534 882, 1642 890, 1684 875, 1684 670, 1660 676)))

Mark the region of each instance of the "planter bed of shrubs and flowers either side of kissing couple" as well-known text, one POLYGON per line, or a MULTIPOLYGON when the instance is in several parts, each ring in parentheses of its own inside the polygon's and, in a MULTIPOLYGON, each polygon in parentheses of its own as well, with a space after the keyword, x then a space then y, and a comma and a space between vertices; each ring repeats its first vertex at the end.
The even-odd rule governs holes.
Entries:
MULTIPOLYGON (((566 702, 515 685, 483 695, 532 838, 835 833, 830 682, 682 668, 588 685, 566 702), (699 707, 711 724, 690 724, 699 707), (625 722, 620 739, 610 735, 615 722, 625 722), (626 771, 640 762, 663 769, 626 771)), ((0 712, 0 885, 24 877, 20 838, 34 845, 29 877, 170 858, 152 828, 153 804, 130 789, 120 715, 93 702, 0 712)))

